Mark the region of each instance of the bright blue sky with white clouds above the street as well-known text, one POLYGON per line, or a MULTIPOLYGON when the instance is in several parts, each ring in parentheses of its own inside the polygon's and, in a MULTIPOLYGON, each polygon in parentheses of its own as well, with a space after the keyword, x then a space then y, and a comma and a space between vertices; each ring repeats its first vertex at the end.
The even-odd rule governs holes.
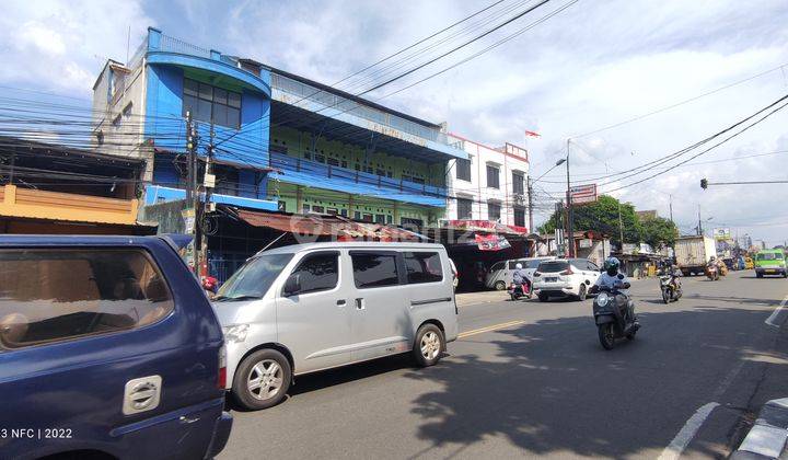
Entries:
MULTIPOLYGON (((544 11, 566 1, 553 0, 544 11)), ((333 83, 490 2, 12 0, 3 2, 0 18, 5 58, 0 85, 88 100, 104 60, 125 59, 129 28, 134 53, 148 25, 202 47, 333 83)), ((513 23, 470 49, 526 23, 513 23)), ((577 138, 570 151, 572 173, 593 177, 679 150, 788 93, 788 68, 779 69, 788 64, 787 23, 785 0, 580 0, 493 51, 380 102, 431 122, 448 122, 450 130, 486 143, 524 145, 537 176, 565 154, 567 137, 777 68, 636 123, 577 138), (525 129, 543 137, 526 139, 525 129)), ((781 242, 788 238, 783 187, 703 192, 698 182, 785 179, 788 152, 707 161, 788 150, 787 122, 788 110, 698 158, 702 164, 614 194, 663 216, 673 195, 674 216, 684 230, 695 225, 699 205, 714 218, 709 226, 727 225, 770 244, 781 242)), ((541 186, 560 191, 561 175, 554 171, 545 181, 556 183, 541 186)))

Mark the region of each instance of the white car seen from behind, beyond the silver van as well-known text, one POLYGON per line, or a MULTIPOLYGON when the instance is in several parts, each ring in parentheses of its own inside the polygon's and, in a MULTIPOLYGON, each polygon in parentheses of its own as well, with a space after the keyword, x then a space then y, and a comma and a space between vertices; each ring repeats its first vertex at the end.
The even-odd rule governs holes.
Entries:
POLYGON ((533 290, 542 302, 552 297, 586 300, 599 276, 600 267, 587 258, 556 258, 540 263, 533 274, 533 290))

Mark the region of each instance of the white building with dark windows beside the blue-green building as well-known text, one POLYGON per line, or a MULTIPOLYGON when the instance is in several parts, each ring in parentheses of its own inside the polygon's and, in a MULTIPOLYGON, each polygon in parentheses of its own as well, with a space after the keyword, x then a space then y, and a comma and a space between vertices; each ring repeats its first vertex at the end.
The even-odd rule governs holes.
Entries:
POLYGON ((449 161, 445 219, 529 227, 528 150, 509 142, 493 148, 454 134, 449 142, 465 150, 468 159, 449 161))

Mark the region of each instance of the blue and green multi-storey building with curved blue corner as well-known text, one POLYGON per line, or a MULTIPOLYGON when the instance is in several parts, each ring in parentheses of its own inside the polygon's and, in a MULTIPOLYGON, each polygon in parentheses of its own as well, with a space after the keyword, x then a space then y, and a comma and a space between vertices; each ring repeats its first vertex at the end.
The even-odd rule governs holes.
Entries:
MULTIPOLYGON (((96 149, 146 162, 146 206, 186 197, 187 113, 210 200, 260 212, 437 226, 448 163, 467 158, 441 125, 155 28, 93 90, 96 149)), ((220 231, 209 251, 243 261, 268 238, 252 233, 220 231)))

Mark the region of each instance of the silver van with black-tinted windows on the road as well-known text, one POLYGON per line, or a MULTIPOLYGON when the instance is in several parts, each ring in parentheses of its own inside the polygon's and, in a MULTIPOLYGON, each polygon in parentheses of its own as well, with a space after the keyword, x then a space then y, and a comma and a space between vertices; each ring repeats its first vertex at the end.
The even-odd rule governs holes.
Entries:
POLYGON ((213 302, 228 384, 251 410, 279 403, 294 376, 413 353, 420 366, 457 337, 445 249, 311 243, 251 257, 213 302))

